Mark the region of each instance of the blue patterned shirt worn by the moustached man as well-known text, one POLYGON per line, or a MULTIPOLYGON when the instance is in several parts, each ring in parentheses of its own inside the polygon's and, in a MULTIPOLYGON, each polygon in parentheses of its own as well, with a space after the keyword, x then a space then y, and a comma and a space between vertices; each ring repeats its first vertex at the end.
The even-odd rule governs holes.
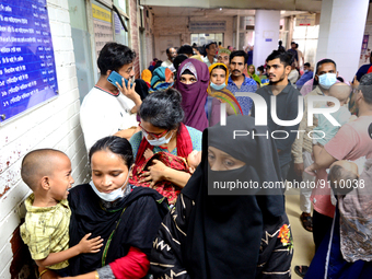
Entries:
MULTIPOLYGON (((244 73, 243 73, 244 75, 244 73)), ((242 83, 242 86, 239 89, 236 84, 233 82, 231 79, 231 75, 229 77, 228 80, 228 86, 226 90, 230 90, 233 95, 235 95, 236 92, 253 92, 255 93, 257 91, 257 82, 254 79, 247 78, 244 75, 244 81, 242 83)), ((239 104, 242 107, 243 114, 244 115, 249 115, 253 101, 251 97, 243 97, 243 96, 236 96, 236 100, 239 104)))

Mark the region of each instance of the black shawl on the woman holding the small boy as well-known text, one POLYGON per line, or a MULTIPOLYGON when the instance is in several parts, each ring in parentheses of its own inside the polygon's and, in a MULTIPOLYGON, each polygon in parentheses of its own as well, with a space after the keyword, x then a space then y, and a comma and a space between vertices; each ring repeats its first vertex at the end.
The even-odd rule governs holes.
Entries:
POLYGON ((104 246, 98 253, 80 254, 69 259, 73 276, 113 263, 127 255, 130 247, 137 247, 149 255, 159 225, 168 211, 164 197, 144 187, 133 188, 109 209, 104 209, 101 198, 89 184, 73 187, 68 198, 72 212, 70 247, 77 245, 86 233, 92 233, 90 239, 101 236, 104 240, 104 246), (105 253, 104 248, 109 239, 111 243, 105 253), (103 257, 104 253, 106 256, 103 257))

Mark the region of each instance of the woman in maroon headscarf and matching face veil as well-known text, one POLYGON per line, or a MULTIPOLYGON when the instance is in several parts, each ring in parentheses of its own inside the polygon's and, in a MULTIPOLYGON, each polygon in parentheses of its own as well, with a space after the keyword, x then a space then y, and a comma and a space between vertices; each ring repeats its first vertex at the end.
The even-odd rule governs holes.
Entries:
POLYGON ((209 72, 205 62, 189 58, 179 65, 175 89, 182 95, 184 124, 200 131, 208 127, 205 112, 208 84, 209 72))

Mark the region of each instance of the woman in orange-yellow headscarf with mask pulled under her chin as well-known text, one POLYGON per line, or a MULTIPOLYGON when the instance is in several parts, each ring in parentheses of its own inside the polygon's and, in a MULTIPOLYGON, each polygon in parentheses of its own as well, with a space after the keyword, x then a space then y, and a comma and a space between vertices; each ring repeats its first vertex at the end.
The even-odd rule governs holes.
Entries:
POLYGON ((226 103, 226 115, 243 114, 235 96, 226 90, 229 70, 224 63, 213 63, 209 66, 210 83, 207 89, 208 97, 206 113, 209 127, 220 121, 221 103, 226 103))

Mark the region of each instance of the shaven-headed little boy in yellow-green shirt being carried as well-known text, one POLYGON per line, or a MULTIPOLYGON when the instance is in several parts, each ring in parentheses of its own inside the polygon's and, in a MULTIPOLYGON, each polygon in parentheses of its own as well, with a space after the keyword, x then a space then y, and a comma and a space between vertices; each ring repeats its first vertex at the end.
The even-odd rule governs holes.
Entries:
POLYGON ((38 266, 67 276, 69 258, 81 253, 97 253, 103 242, 100 236, 88 240, 89 233, 69 248, 71 211, 67 196, 74 183, 71 162, 58 150, 34 150, 24 156, 21 176, 33 190, 25 200, 27 213, 21 225, 21 237, 38 266))

